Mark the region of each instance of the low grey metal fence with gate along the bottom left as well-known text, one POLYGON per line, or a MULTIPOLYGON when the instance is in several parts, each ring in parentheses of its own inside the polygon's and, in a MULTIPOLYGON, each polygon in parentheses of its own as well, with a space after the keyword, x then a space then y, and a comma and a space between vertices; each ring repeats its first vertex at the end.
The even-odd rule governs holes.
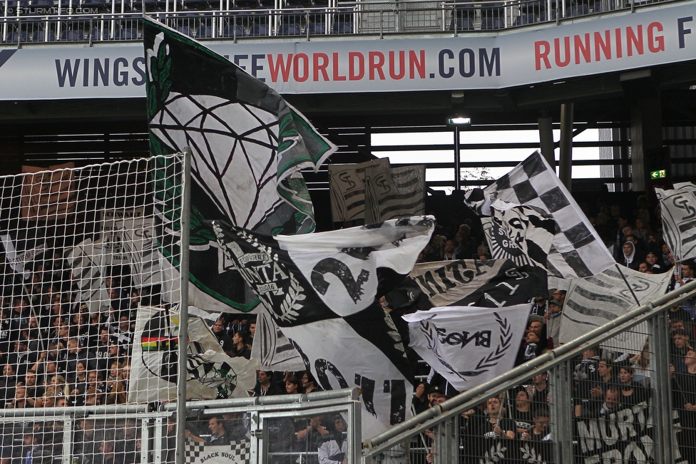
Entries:
MULTIPOLYGON (((190 402, 180 424, 187 431, 185 463, 319 462, 325 441, 319 437, 335 437, 338 421, 344 426, 345 457, 354 463, 360 452, 357 398, 354 388, 190 402), (219 441, 225 444, 210 440, 216 433, 211 423, 222 424, 219 441)), ((7 463, 173 464, 177 421, 176 406, 170 406, 150 412, 145 405, 1 409, 2 458, 7 463)))

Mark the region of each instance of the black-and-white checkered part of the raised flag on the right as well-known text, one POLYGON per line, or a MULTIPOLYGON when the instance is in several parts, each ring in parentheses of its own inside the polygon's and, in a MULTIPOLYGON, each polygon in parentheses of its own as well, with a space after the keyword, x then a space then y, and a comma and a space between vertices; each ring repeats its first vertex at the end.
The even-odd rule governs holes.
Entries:
POLYGON ((495 200, 536 207, 556 221, 558 229, 546 263, 548 274, 564 279, 589 277, 615 264, 588 218, 538 152, 485 190, 475 190, 465 197, 467 204, 483 216, 491 216, 495 200))

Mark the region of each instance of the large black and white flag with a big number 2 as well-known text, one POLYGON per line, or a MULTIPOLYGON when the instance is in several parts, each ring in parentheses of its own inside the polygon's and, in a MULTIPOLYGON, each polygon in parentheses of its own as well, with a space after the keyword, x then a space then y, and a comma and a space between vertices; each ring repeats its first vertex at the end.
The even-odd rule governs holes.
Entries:
POLYGON ((404 421, 411 367, 378 297, 409 274, 433 218, 275 237, 211 227, 322 388, 362 389, 363 438, 404 421))

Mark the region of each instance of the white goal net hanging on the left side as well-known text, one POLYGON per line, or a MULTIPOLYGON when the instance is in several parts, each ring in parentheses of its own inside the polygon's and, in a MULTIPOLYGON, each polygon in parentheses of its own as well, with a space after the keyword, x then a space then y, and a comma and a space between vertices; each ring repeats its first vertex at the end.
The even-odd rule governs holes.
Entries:
POLYGON ((0 177, 1 463, 173 462, 182 158, 57 168, 0 177))

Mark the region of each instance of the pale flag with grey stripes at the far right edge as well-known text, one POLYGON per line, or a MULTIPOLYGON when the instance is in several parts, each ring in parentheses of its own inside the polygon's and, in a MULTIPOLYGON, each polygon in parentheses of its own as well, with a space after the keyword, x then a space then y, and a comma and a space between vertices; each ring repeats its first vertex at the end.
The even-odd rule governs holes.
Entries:
POLYGON ((696 185, 677 182, 674 190, 655 188, 660 200, 662 237, 677 261, 696 257, 696 185))

